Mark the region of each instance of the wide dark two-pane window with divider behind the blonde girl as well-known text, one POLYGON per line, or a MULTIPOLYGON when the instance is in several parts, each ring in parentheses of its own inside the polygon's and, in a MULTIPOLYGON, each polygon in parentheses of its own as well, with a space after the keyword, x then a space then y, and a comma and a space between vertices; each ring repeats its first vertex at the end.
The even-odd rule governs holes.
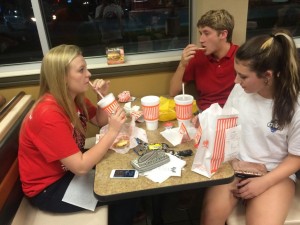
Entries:
POLYGON ((104 58, 113 46, 126 56, 180 50, 189 27, 188 0, 2 0, 0 65, 41 61, 63 43, 85 57, 104 58))

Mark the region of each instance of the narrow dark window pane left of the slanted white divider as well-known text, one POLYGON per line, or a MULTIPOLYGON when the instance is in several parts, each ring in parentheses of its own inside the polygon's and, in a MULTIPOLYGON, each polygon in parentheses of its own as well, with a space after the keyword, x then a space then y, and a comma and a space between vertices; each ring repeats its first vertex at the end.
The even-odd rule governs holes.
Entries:
POLYGON ((42 55, 30 1, 0 1, 0 64, 37 61, 42 55))

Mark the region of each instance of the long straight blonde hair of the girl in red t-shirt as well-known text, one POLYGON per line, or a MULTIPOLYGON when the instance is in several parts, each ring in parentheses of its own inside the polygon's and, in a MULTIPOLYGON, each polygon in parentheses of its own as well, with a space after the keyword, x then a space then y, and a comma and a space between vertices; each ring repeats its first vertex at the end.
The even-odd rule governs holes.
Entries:
POLYGON ((68 94, 67 85, 70 63, 79 55, 82 55, 79 47, 75 45, 59 45, 52 48, 44 56, 40 74, 39 98, 41 99, 46 93, 53 95, 57 103, 65 110, 74 127, 85 135, 85 130, 76 111, 77 106, 88 118, 84 94, 76 96, 74 102, 68 94))

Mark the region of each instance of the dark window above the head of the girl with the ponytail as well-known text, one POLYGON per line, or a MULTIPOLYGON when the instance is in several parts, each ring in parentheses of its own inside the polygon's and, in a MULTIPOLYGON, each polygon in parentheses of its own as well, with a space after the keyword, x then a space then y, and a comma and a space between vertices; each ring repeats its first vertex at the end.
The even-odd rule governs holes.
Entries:
POLYGON ((288 29, 295 38, 300 36, 300 0, 249 0, 247 39, 271 34, 273 28, 288 29))

